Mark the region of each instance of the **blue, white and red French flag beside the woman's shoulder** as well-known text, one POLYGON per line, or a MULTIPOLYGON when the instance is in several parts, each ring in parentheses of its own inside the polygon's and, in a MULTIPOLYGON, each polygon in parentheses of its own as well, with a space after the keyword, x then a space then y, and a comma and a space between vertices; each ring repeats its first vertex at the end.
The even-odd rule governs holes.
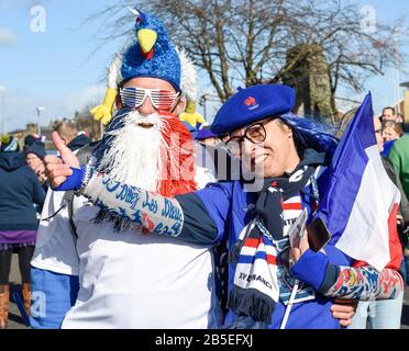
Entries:
POLYGON ((380 159, 371 93, 343 134, 329 171, 328 191, 317 216, 327 224, 331 244, 382 271, 394 257, 401 257, 401 247, 390 246, 399 241, 400 192, 380 159), (395 252, 399 249, 400 253, 395 252))

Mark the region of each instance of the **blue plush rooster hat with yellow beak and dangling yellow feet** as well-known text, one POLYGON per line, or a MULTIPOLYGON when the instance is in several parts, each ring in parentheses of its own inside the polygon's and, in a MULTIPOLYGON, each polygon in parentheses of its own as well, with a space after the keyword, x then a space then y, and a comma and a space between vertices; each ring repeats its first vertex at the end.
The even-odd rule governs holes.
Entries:
POLYGON ((196 122, 202 123, 201 115, 196 112, 197 73, 194 64, 184 50, 174 47, 161 21, 140 10, 130 10, 136 18, 132 43, 114 55, 108 69, 106 98, 91 110, 91 114, 97 121, 108 124, 112 120, 119 87, 132 78, 152 77, 168 81, 184 93, 187 107, 183 120, 195 120, 195 126, 196 122))

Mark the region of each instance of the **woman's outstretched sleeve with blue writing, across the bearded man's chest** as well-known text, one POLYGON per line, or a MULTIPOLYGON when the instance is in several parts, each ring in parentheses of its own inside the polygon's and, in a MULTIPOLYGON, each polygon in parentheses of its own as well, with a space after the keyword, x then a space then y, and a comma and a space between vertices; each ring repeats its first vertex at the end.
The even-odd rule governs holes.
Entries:
POLYGON ((136 226, 145 234, 177 237, 198 245, 218 242, 222 234, 219 222, 225 220, 229 207, 226 196, 218 188, 172 199, 97 173, 92 173, 84 194, 101 210, 130 220, 131 228, 136 226), (204 202, 208 197, 215 210, 204 202), (214 212, 212 216, 210 211, 214 212))

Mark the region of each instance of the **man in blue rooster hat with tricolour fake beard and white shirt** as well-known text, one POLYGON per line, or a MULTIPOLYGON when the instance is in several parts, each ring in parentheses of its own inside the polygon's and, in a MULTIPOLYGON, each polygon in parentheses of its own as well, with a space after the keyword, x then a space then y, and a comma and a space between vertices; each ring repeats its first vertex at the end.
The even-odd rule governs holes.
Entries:
MULTIPOLYGON (((214 179, 209 179, 206 169, 195 167, 192 138, 178 118, 186 105, 183 89, 195 81, 192 65, 176 52, 159 21, 132 11, 136 15, 136 41, 114 57, 106 99, 92 110, 97 120, 109 124, 91 162, 113 179, 143 184, 162 195, 195 191, 214 179), (111 118, 115 101, 119 111, 111 118)), ((62 143, 56 133, 54 139, 62 143)), ((137 201, 132 189, 123 189, 123 196, 137 201)), ((64 247, 73 247, 73 235, 67 228, 65 238, 52 233, 52 238, 40 239, 41 247, 32 262, 34 327, 220 325, 211 249, 174 242, 172 238, 131 235, 130 222, 82 203, 73 217, 76 257, 75 250, 64 247), (56 250, 58 240, 64 245, 56 250), (47 246, 54 251, 47 252, 47 246), (57 265, 65 265, 64 270, 57 265)), ((147 201, 145 206, 154 211, 155 203, 147 201)), ((144 212, 135 211, 134 215, 144 226, 142 233, 152 229, 144 212)))

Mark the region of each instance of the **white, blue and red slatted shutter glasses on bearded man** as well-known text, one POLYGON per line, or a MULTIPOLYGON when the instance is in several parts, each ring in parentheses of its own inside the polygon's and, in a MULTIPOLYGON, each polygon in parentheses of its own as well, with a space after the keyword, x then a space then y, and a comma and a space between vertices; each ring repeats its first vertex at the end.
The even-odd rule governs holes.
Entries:
POLYGON ((180 93, 174 93, 166 89, 145 89, 145 88, 120 88, 120 97, 122 104, 131 109, 142 106, 146 97, 150 97, 152 105, 156 110, 172 111, 179 98, 180 93))

